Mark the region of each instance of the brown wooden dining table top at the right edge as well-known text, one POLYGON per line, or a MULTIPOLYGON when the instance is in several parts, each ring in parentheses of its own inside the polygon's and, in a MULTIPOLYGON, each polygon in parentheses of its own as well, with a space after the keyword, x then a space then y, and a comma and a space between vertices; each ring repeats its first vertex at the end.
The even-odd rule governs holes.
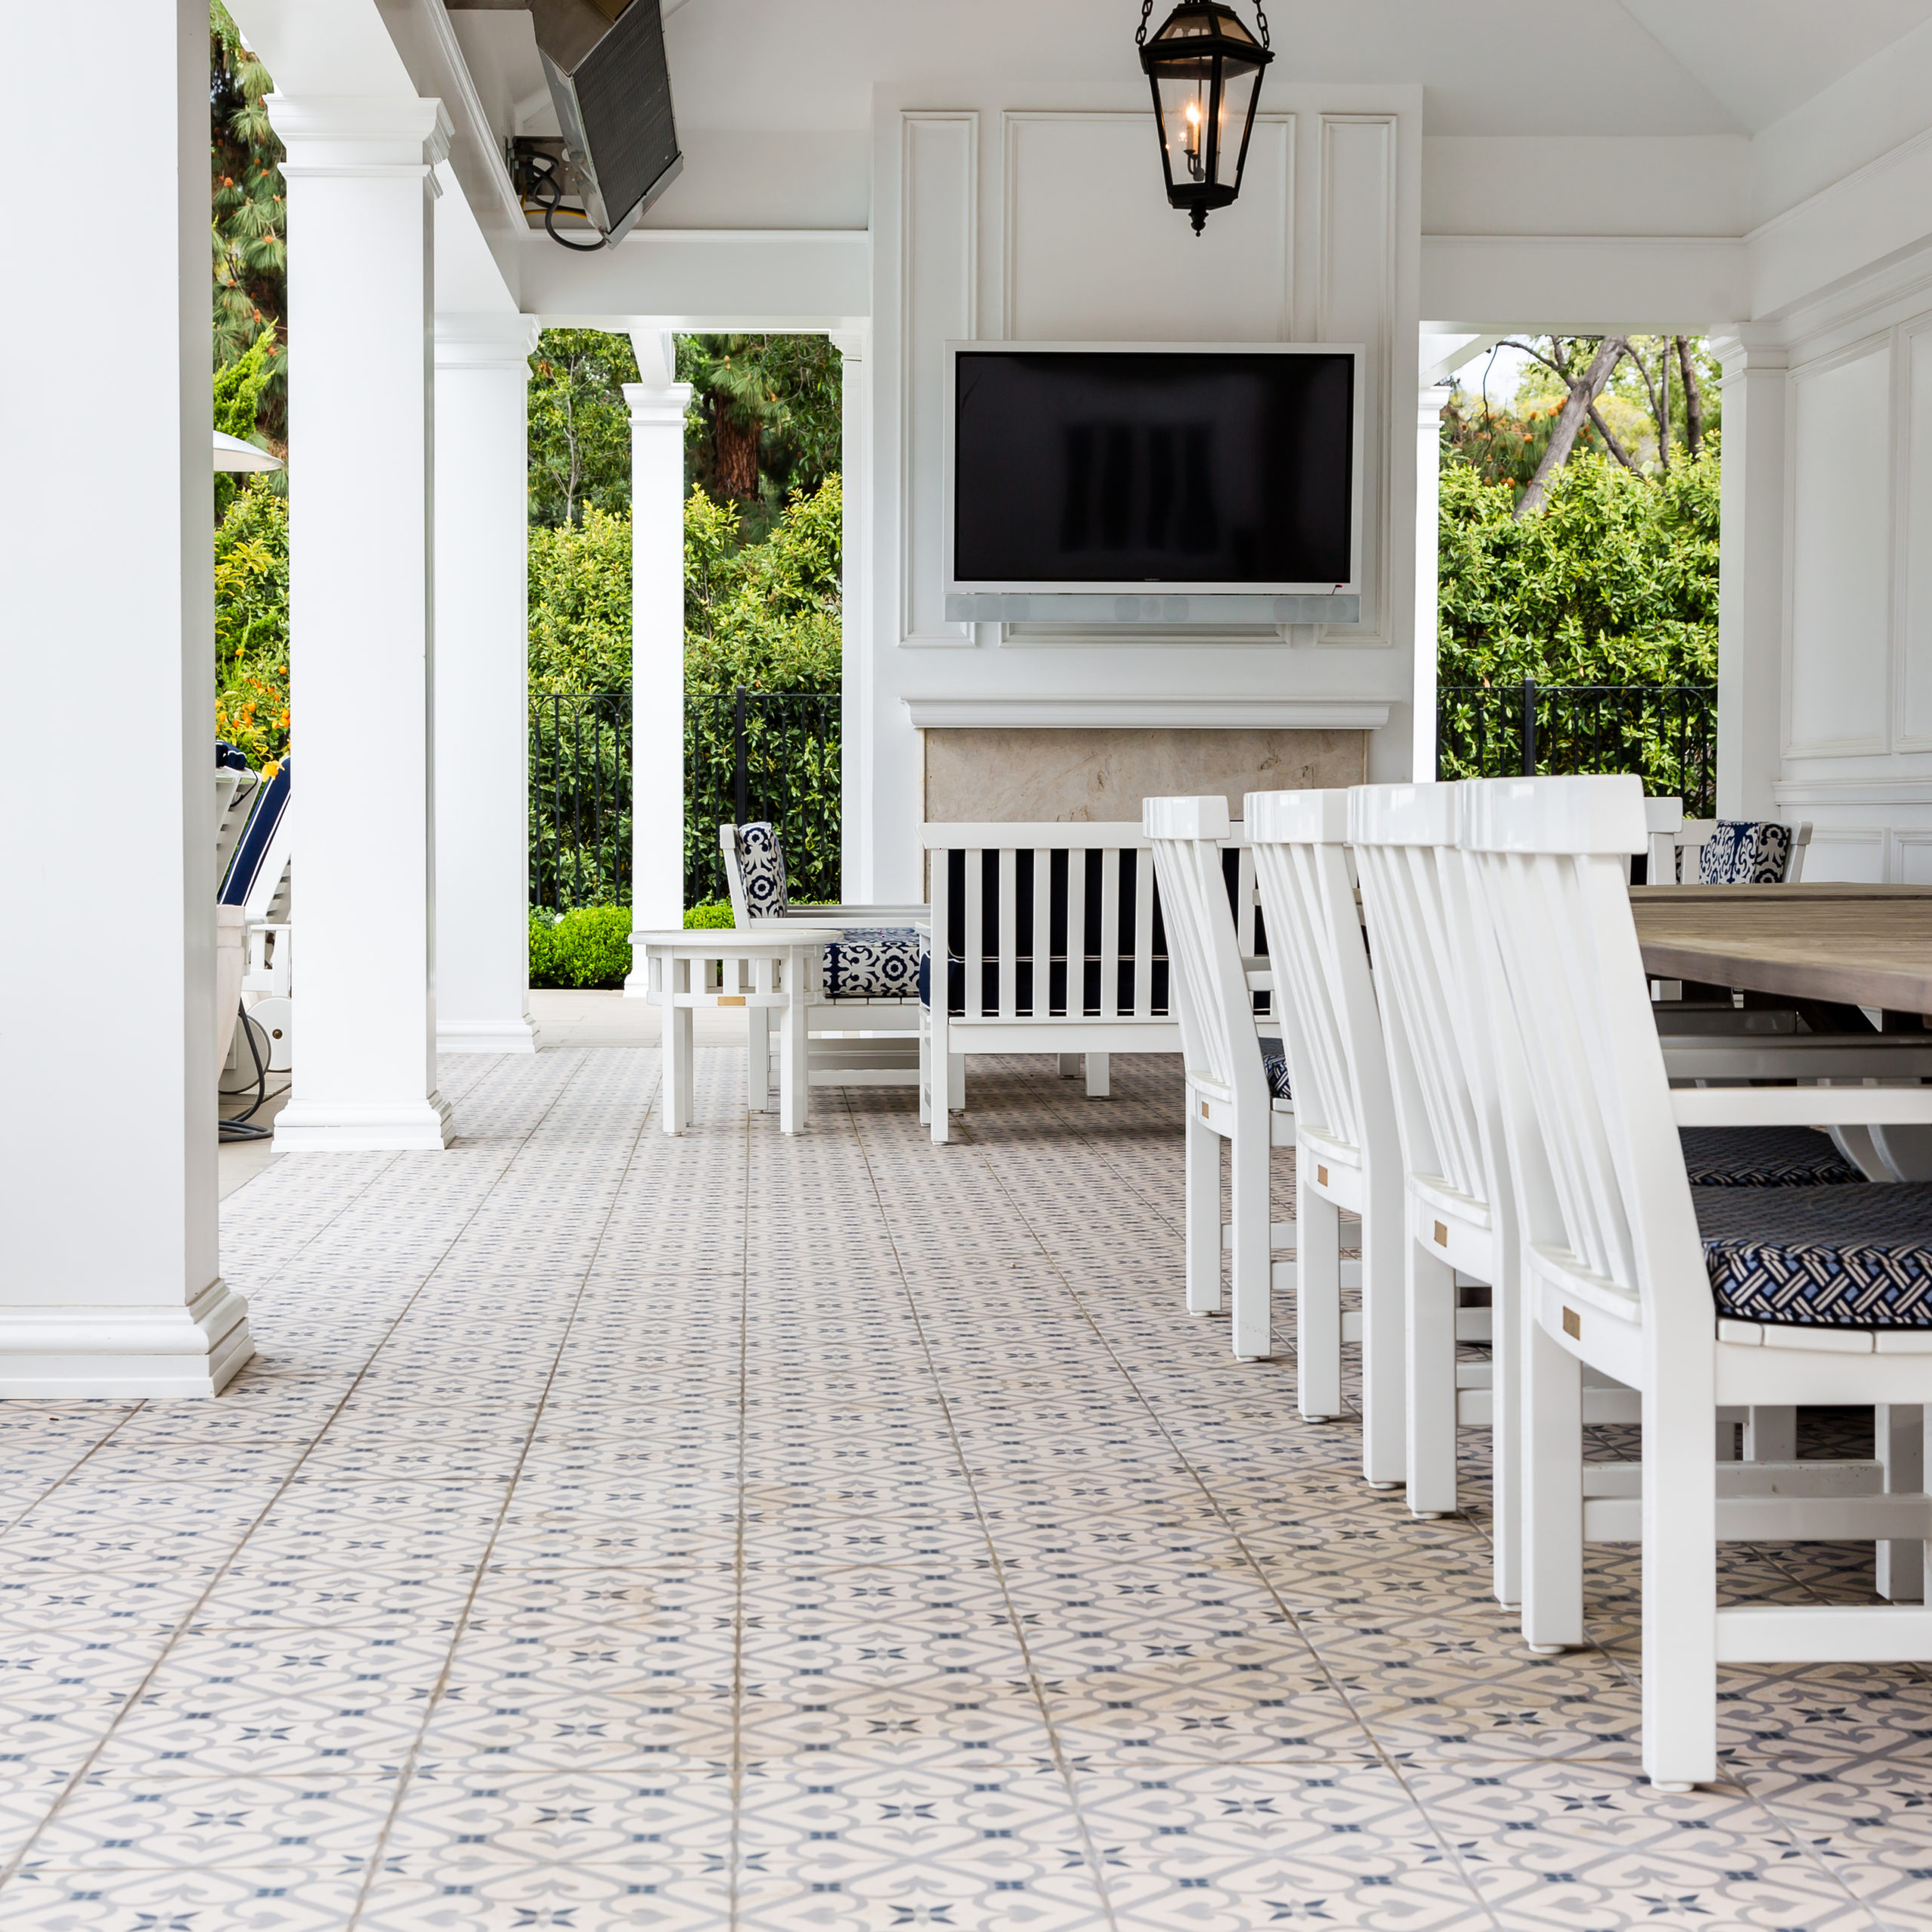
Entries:
POLYGON ((1638 885, 1644 970, 1833 1007, 1932 1014, 1932 887, 1638 885))

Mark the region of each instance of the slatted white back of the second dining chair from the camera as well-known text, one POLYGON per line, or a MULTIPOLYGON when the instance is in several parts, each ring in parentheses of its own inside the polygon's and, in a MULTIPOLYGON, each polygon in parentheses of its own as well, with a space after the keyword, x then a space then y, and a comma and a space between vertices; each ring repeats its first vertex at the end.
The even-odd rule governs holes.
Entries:
POLYGON ((1403 1163, 1488 1204, 1499 1142, 1488 1026, 1468 999, 1468 904, 1453 784, 1364 784, 1349 840, 1376 960, 1403 1163))

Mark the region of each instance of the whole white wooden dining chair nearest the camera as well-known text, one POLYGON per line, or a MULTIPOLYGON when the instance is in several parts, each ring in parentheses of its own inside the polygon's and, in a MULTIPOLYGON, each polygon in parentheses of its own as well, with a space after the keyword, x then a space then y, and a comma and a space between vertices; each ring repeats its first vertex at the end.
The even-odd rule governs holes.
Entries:
POLYGON ((1464 786, 1463 848, 1493 941, 1476 962, 1492 1024, 1519 1043, 1499 1088, 1528 1314, 1524 1636, 1580 1642, 1582 1540, 1640 1540, 1644 1770, 1687 1789, 1718 1772, 1719 1663, 1932 1660, 1922 1607, 1719 1607, 1716 1592, 1719 1538, 1926 1538, 1918 1482, 1845 1493, 1845 1464, 1733 1464, 1719 1495, 1712 1453, 1719 1405, 1932 1399, 1932 1188, 1692 1192, 1677 1128, 1727 1113, 1924 1121, 1932 1090, 1673 1092, 1623 877, 1642 844, 1633 777, 1464 786), (1640 1472, 1594 1490, 1584 1364, 1642 1397, 1640 1472))

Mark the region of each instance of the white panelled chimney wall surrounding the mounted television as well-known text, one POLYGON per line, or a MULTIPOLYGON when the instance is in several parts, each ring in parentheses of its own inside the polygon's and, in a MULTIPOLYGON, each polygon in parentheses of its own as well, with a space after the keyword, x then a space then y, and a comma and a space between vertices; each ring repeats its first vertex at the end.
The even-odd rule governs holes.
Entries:
MULTIPOLYGON (((873 126, 869 850, 848 891, 920 895, 908 699, 1370 699, 1370 761, 1408 775, 1420 91, 1262 97, 1240 201, 1196 238, 1167 207, 1146 95, 885 91, 873 126), (949 340, 1366 342, 1362 622, 1300 647, 951 624, 941 580, 949 340)), ((1186 723, 1182 715, 1175 723, 1186 723)))

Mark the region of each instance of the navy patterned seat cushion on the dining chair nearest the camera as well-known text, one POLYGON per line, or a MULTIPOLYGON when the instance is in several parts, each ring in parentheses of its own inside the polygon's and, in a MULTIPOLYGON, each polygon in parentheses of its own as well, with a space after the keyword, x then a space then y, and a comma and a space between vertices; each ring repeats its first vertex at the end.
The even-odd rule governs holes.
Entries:
POLYGON ((1719 1316, 1932 1327, 1932 1186, 1692 1188, 1719 1316))

